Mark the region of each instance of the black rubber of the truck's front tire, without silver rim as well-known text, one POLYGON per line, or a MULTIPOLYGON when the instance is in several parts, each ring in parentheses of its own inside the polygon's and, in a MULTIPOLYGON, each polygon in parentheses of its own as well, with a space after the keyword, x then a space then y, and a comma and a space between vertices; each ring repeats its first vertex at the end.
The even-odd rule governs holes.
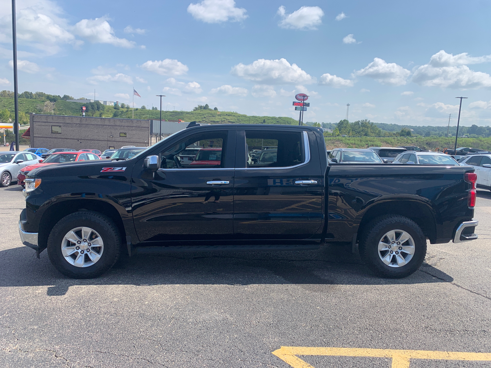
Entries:
POLYGON ((48 237, 48 256, 51 263, 63 275, 74 279, 90 279, 102 275, 118 261, 120 251, 121 234, 118 228, 107 216, 95 211, 78 211, 63 217, 48 237), (88 267, 77 267, 68 263, 61 253, 65 234, 80 226, 95 230, 104 242, 101 258, 88 267))

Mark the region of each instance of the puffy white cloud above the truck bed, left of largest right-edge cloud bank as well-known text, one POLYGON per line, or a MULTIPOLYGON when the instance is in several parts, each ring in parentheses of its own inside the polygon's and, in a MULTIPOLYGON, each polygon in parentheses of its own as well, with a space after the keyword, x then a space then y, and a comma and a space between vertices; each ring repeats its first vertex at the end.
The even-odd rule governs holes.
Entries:
POLYGON ((374 58, 365 68, 358 70, 354 76, 369 77, 382 84, 404 85, 411 72, 396 63, 386 63, 381 58, 374 58))

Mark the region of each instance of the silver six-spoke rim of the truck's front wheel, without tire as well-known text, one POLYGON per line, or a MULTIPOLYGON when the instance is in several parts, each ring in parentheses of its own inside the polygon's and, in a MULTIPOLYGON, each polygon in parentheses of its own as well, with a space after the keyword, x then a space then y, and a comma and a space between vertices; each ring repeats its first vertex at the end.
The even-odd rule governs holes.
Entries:
POLYGON ((78 227, 65 234, 61 253, 66 262, 76 267, 89 267, 101 259, 104 243, 91 228, 78 227))

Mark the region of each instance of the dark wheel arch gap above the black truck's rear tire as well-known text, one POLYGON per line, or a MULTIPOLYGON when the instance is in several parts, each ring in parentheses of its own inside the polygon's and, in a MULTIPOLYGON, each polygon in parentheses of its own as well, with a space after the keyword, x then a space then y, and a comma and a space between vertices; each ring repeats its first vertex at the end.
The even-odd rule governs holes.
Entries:
POLYGON ((436 240, 435 213, 428 204, 412 199, 390 199, 376 202, 368 207, 361 218, 358 227, 358 237, 371 220, 385 214, 408 217, 421 228, 425 237, 430 239, 430 242, 433 243, 436 240))

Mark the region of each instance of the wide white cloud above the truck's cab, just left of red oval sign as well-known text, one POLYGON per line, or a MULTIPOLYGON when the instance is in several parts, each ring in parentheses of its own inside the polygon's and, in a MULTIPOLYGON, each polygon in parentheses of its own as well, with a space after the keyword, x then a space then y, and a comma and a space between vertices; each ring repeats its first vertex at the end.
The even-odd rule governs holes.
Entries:
POLYGON ((239 63, 232 68, 232 74, 248 80, 273 84, 312 83, 313 78, 300 69, 297 64, 291 64, 286 59, 258 59, 252 64, 239 63))

